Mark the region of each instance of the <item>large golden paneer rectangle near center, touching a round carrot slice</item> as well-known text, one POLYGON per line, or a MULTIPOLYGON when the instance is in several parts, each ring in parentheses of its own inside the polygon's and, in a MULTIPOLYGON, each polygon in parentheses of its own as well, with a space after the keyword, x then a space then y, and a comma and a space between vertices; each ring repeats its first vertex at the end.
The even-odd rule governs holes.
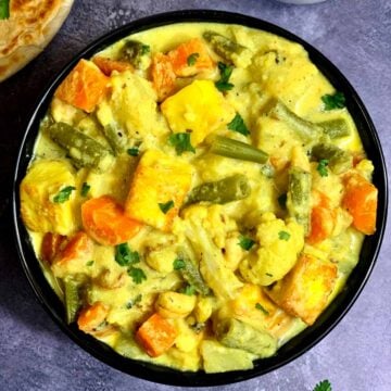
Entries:
POLYGON ((136 168, 125 214, 163 231, 174 218, 191 186, 192 168, 185 161, 148 150, 136 168))

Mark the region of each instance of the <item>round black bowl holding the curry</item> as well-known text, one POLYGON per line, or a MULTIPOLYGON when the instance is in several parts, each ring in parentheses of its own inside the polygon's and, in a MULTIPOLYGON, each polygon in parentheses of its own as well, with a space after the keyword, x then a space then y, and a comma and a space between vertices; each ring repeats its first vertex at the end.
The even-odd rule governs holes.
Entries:
POLYGON ((63 331, 70 336, 79 346, 92 354, 94 357, 124 373, 150 381, 193 387, 232 383, 266 374, 291 362, 301 354, 305 353, 314 344, 319 342, 346 314, 349 308, 357 299, 371 273, 386 228, 388 204, 386 164, 378 136, 363 102, 346 78, 339 72, 339 70, 312 46, 293 34, 270 23, 235 13, 201 10, 169 12, 131 22, 128 25, 119 27, 96 40, 78 55, 76 55, 75 59, 65 66, 65 68, 47 88, 29 119, 16 163, 13 186, 14 228, 17 251, 21 257, 22 266, 38 300, 55 320, 55 323, 63 329, 63 331), (251 370, 239 370, 224 374, 204 374, 203 371, 181 373, 171 368, 125 358, 115 353, 104 343, 101 343, 92 337, 79 331, 75 325, 66 325, 64 321, 63 304, 45 279, 33 251, 28 234, 21 219, 18 195, 20 184, 26 173, 28 162, 33 154, 33 148, 38 133, 39 122, 43 117, 53 92, 62 79, 74 67, 80 58, 88 59, 96 52, 104 49, 105 47, 129 34, 179 22, 215 22, 224 24, 240 24, 248 27, 266 30, 302 45, 308 52, 313 63, 332 83, 337 90, 342 91, 345 94, 348 110, 354 118, 367 155, 374 162, 376 167, 374 174, 374 184, 379 190, 377 230, 374 236, 365 238, 360 255, 360 262, 348 279, 344 289, 313 326, 308 327, 299 336, 290 340, 287 344, 281 346, 275 356, 256 361, 254 363, 254 368, 251 370))

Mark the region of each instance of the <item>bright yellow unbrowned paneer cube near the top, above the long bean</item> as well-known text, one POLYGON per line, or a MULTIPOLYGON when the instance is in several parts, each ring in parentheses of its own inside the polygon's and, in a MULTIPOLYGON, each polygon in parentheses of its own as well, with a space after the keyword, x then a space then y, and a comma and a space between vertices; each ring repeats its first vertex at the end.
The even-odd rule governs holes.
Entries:
POLYGON ((191 133, 198 146, 235 117, 235 110, 212 80, 194 80, 162 103, 162 112, 174 133, 191 133))

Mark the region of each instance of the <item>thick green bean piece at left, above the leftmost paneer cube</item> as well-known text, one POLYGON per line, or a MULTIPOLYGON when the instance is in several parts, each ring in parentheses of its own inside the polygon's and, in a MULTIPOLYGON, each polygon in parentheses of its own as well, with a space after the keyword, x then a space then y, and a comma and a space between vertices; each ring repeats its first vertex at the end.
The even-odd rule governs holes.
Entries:
POLYGON ((68 124, 55 123, 49 126, 46 133, 66 150, 76 167, 94 167, 103 171, 112 162, 109 149, 68 124))

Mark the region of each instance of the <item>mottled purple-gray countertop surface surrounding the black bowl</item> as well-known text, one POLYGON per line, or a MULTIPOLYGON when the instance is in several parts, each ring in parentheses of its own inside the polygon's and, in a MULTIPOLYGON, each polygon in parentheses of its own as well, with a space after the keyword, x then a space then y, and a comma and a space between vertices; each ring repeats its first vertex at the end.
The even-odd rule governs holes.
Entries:
MULTIPOLYGON (((0 84, 0 389, 171 390, 112 369, 75 345, 34 297, 13 244, 10 192, 28 114, 47 83, 94 38, 153 13, 184 9, 239 12, 285 27, 328 56, 362 97, 390 161, 391 1, 76 0, 47 50, 0 84)), ((390 230, 364 291, 342 321, 307 353, 270 374, 219 390, 391 390, 390 230)))

